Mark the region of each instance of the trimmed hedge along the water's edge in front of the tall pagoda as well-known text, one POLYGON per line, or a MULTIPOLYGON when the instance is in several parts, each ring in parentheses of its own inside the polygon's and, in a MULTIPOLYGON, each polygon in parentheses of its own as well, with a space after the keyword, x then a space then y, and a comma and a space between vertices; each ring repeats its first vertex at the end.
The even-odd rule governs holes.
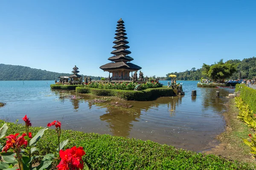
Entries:
POLYGON ((172 88, 148 88, 142 91, 125 91, 115 89, 98 89, 77 87, 78 93, 90 93, 96 96, 116 96, 125 100, 148 101, 158 97, 175 96, 172 88))

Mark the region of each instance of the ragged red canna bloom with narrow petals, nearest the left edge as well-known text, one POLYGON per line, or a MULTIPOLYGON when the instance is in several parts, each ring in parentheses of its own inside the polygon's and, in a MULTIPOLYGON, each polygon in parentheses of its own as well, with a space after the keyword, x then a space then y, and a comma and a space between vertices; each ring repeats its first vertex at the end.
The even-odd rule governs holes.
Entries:
POLYGON ((7 150, 9 150, 9 148, 20 149, 21 146, 23 146, 23 145, 26 146, 28 144, 28 141, 24 138, 24 136, 26 136, 25 133, 23 133, 17 139, 18 135, 19 135, 19 133, 16 133, 15 135, 11 134, 9 136, 6 136, 7 141, 6 141, 5 147, 3 147, 3 151, 7 152, 7 150))

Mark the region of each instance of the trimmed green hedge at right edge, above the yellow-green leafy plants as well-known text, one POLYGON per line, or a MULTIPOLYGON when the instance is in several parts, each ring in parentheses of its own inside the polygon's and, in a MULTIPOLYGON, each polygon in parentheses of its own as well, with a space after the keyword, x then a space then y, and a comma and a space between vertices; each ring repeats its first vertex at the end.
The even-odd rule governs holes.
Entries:
POLYGON ((248 85, 236 84, 236 91, 241 91, 240 96, 242 100, 249 105, 250 110, 256 112, 256 90, 249 88, 248 85))

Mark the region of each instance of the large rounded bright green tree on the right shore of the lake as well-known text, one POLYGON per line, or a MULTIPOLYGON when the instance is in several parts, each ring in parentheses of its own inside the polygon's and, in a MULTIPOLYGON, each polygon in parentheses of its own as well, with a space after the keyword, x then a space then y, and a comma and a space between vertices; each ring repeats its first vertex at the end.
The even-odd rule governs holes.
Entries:
POLYGON ((231 62, 224 63, 223 59, 221 59, 214 65, 203 64, 202 75, 207 76, 214 82, 217 82, 217 80, 223 82, 224 79, 231 77, 236 72, 236 68, 236 64, 231 62))

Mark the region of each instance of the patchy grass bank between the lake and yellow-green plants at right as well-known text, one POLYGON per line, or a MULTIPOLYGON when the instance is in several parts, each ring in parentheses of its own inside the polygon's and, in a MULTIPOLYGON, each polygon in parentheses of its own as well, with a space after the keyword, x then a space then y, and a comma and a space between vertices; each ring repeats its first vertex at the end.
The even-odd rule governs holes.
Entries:
POLYGON ((253 130, 237 119, 239 109, 236 107, 235 99, 230 99, 227 103, 227 109, 227 112, 223 114, 226 130, 217 137, 221 144, 206 153, 248 162, 255 169, 256 162, 250 154, 250 147, 245 145, 242 140, 248 138, 248 134, 253 133, 253 130))

